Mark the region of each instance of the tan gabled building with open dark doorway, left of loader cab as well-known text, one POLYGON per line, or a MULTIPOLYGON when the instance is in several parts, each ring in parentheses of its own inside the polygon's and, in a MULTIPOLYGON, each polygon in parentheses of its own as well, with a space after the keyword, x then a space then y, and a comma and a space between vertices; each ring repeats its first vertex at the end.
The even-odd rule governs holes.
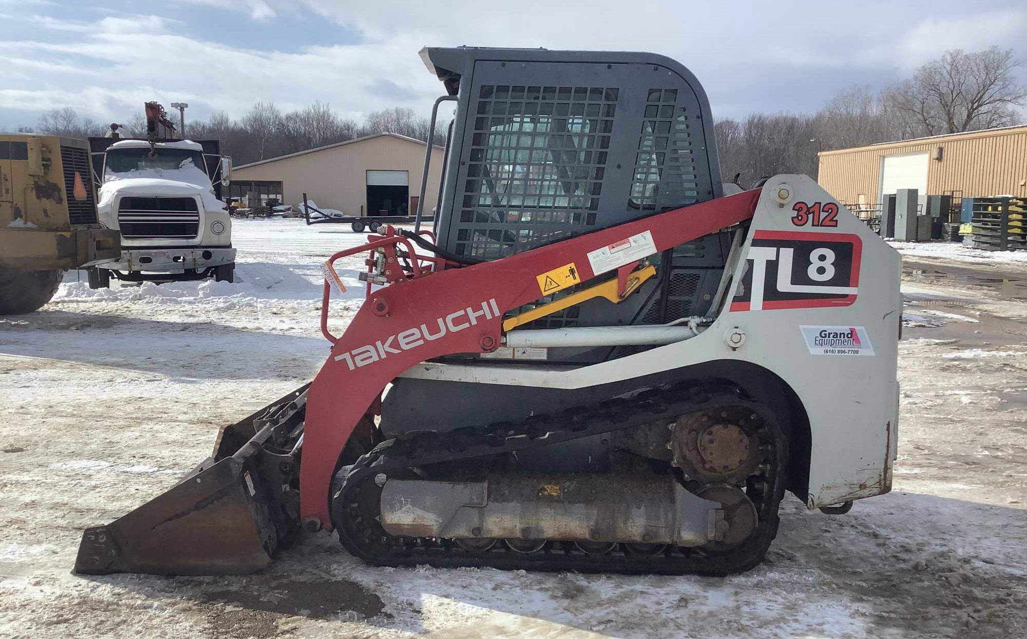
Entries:
MULTIPOLYGON (((346 215, 414 215, 421 190, 425 143, 396 134, 355 140, 242 164, 232 171, 228 197, 256 194, 299 210, 303 193, 318 208, 346 215)), ((433 145, 424 212, 439 196, 443 147, 433 145)), ((256 205, 254 202, 248 202, 256 205)))

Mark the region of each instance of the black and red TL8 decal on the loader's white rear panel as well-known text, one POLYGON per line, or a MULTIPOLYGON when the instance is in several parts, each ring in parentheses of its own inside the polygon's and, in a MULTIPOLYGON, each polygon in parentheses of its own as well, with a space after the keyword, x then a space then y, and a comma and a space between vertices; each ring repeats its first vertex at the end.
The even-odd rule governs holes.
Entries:
POLYGON ((756 231, 730 309, 848 306, 860 292, 862 253, 859 235, 756 231))

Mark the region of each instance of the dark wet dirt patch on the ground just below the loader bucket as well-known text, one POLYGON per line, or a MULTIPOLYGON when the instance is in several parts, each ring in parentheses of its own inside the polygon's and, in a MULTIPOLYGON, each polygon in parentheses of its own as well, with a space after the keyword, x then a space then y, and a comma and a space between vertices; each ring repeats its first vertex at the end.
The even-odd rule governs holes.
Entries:
POLYGON ((284 615, 330 618, 346 612, 369 619, 385 609, 378 595, 344 579, 276 581, 260 590, 208 592, 203 599, 246 608, 258 617, 270 614, 272 619, 284 615))

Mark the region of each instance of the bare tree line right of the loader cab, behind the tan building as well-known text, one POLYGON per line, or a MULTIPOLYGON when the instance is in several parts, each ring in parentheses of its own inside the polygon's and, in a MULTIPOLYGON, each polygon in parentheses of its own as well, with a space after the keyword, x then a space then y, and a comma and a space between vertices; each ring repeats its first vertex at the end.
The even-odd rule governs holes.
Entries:
POLYGON ((1020 124, 1027 88, 1016 80, 1019 66, 1012 50, 997 46, 954 49, 878 92, 844 89, 815 113, 717 120, 724 179, 740 174, 748 187, 779 173, 815 178, 820 151, 1020 124))

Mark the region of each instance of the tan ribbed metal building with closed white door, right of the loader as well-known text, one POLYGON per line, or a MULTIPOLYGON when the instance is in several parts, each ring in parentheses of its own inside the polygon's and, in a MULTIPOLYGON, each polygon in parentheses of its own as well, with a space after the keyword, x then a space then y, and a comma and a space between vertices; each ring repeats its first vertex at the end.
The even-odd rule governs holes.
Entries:
POLYGON ((822 151, 817 182, 847 204, 875 204, 896 189, 956 197, 1027 195, 1027 126, 822 151), (961 192, 960 192, 961 191, 961 192))

